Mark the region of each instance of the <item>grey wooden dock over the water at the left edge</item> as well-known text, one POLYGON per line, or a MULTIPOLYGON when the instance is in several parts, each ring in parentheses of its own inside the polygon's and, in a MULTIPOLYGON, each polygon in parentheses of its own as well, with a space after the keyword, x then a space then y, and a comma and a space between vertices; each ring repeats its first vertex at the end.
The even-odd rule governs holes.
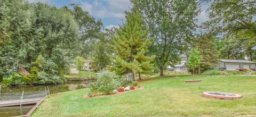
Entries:
POLYGON ((12 101, 0 101, 0 107, 6 107, 6 106, 19 106, 21 105, 27 105, 27 104, 36 104, 37 102, 41 101, 42 98, 31 98, 31 99, 18 99, 18 100, 12 100, 12 101))

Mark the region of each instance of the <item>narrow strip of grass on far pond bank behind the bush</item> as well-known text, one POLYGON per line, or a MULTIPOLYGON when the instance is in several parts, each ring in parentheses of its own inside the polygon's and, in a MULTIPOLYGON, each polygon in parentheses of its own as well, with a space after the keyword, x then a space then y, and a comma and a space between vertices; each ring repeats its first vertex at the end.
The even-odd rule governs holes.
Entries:
POLYGON ((66 75, 64 75, 64 77, 67 80, 79 80, 79 79, 83 79, 85 77, 96 77, 96 75, 95 75, 95 72, 81 71, 80 76, 78 73, 78 74, 66 74, 66 75))

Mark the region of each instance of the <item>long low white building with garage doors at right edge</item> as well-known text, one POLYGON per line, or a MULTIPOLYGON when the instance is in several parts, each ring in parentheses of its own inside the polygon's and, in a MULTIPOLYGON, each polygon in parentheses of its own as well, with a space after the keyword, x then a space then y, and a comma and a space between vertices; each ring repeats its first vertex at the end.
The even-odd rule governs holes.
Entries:
POLYGON ((235 71, 237 69, 252 69, 255 70, 256 62, 247 60, 219 60, 215 68, 221 68, 228 71, 235 71))

